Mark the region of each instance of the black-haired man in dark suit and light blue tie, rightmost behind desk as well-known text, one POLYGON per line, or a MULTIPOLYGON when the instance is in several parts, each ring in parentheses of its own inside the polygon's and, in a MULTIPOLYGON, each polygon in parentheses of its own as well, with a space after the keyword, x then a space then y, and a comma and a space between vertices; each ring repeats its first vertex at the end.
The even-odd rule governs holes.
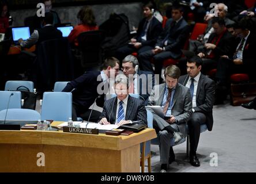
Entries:
POLYGON ((191 119, 189 125, 190 137, 190 163, 192 166, 200 166, 196 151, 200 136, 200 125, 206 124, 209 131, 212 131, 215 83, 212 79, 201 74, 202 59, 193 56, 187 61, 187 75, 179 78, 179 83, 190 89, 192 99, 191 119))

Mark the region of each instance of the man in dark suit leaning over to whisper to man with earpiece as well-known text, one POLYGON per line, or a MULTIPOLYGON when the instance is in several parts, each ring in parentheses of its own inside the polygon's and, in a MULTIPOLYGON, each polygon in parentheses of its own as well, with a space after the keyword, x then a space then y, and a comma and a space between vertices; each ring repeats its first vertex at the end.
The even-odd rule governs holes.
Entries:
MULTIPOLYGON (((99 95, 97 105, 103 106, 104 92, 108 91, 108 79, 115 78, 119 72, 119 60, 115 57, 108 57, 103 63, 102 71, 86 71, 77 79, 67 83, 63 92, 72 92, 73 111, 72 119, 76 121, 77 117, 88 120, 91 109, 89 107, 96 101, 99 95), (104 89, 102 89, 104 87, 104 89), (106 90, 107 89, 107 90, 106 90)), ((92 111, 91 121, 96 122, 100 116, 97 110, 92 111)))

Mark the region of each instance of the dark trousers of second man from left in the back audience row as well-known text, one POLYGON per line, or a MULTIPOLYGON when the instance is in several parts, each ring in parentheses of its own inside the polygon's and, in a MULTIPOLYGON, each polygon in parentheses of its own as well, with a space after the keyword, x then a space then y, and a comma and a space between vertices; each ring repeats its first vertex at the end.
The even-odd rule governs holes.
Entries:
POLYGON ((152 53, 152 49, 153 47, 149 51, 143 52, 140 55, 138 55, 141 70, 154 72, 152 64, 150 63, 150 59, 152 59, 153 57, 154 64, 155 64, 154 73, 161 75, 161 70, 163 68, 163 61, 165 59, 170 58, 173 55, 173 53, 171 51, 163 51, 154 55, 152 53))

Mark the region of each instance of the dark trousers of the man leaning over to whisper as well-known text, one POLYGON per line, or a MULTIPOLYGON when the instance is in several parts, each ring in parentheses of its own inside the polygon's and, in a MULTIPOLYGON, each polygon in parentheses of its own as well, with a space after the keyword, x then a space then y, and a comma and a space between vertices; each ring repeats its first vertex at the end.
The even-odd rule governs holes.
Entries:
POLYGON ((85 121, 90 121, 90 122, 97 122, 99 120, 99 117, 101 115, 101 112, 97 110, 92 110, 92 109, 84 109, 82 110, 81 106, 76 105, 73 103, 72 106, 72 120, 77 121, 77 117, 81 117, 85 121), (92 111, 91 117, 89 119, 90 113, 92 111))

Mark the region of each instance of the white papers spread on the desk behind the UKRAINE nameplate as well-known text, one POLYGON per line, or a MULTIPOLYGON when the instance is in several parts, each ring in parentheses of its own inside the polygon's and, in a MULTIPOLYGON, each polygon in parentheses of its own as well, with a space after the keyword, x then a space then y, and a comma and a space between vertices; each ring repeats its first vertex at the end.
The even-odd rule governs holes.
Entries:
MULTIPOLYGON (((87 122, 73 121, 74 127, 80 125, 80 128, 85 128, 86 124, 87 124, 87 122)), ((65 121, 62 124, 58 125, 58 128, 62 128, 62 127, 67 127, 67 121, 65 121)), ((115 125, 115 124, 101 125, 101 124, 97 124, 95 122, 89 122, 88 125, 87 125, 87 128, 110 131, 110 130, 112 130, 114 128, 118 128, 118 125, 115 125)))

